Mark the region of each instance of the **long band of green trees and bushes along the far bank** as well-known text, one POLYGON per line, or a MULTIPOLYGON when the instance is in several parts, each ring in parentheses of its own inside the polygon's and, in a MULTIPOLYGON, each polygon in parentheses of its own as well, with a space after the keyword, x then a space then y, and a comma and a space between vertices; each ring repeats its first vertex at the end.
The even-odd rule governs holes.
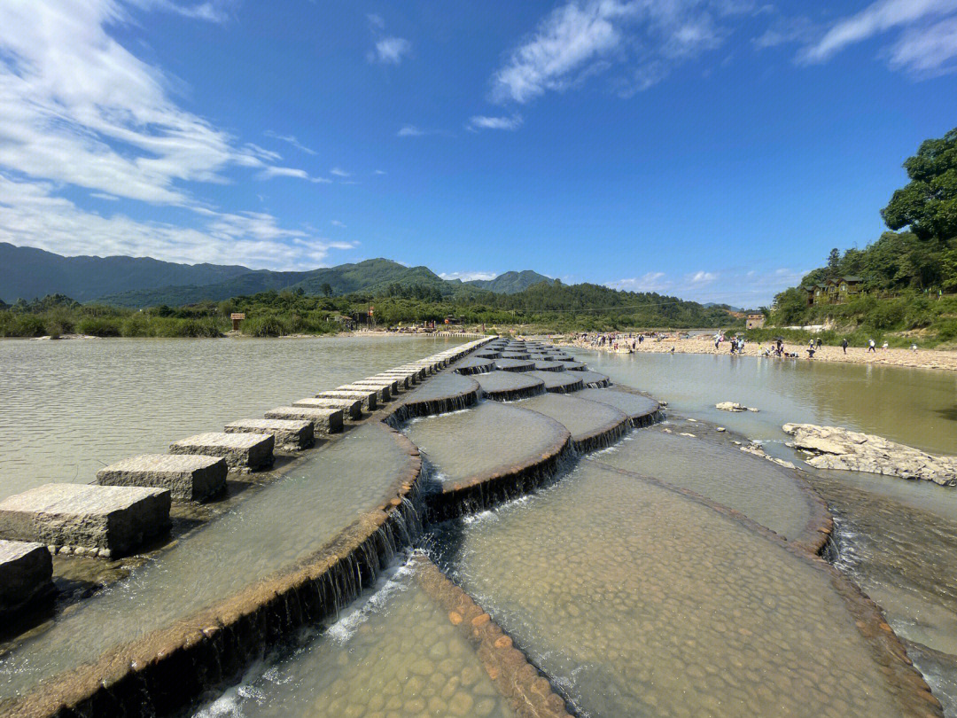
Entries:
POLYGON ((482 292, 475 297, 451 298, 436 295, 431 287, 412 284, 344 297, 270 290, 218 303, 164 304, 147 309, 80 304, 54 295, 0 307, 0 336, 212 337, 230 330, 234 312, 246 315, 241 331, 252 336, 327 334, 366 325, 369 309, 379 327, 426 322, 444 325, 449 320, 453 325, 488 328, 531 325, 549 331, 610 331, 742 323, 722 307, 595 284, 542 282, 512 295, 482 292))

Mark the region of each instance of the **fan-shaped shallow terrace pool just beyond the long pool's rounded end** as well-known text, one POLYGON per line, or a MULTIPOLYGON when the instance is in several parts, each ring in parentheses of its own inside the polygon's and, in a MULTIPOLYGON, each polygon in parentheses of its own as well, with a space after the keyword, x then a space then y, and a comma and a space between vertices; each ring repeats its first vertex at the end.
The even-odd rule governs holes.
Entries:
POLYGON ((441 482, 459 482, 540 457, 565 436, 561 425, 514 404, 414 419, 405 429, 441 482))

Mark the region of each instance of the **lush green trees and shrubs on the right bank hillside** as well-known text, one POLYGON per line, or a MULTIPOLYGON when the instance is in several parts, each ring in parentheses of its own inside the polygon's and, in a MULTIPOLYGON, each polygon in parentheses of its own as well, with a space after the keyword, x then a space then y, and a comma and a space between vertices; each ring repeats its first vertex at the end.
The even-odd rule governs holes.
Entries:
POLYGON ((925 141, 903 167, 910 182, 880 212, 891 231, 864 249, 833 249, 826 265, 774 298, 772 324, 830 321, 845 332, 957 338, 957 300, 946 296, 957 292, 957 128, 925 141), (846 303, 809 305, 807 288, 842 277, 859 278, 863 291, 846 303))

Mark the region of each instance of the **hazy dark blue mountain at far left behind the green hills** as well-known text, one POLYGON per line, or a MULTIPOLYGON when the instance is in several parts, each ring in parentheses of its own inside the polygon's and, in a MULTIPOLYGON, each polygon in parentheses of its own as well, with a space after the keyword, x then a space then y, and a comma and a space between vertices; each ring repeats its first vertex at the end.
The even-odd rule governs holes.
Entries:
POLYGON ((66 294, 89 302, 134 287, 213 284, 251 271, 240 265, 176 264, 148 257, 62 257, 0 242, 0 301, 66 294))

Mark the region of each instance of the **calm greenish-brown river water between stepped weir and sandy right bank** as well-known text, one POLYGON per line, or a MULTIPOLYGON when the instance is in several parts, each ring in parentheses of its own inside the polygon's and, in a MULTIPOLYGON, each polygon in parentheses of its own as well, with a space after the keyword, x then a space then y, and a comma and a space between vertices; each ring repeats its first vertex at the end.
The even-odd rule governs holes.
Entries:
POLYGON ((709 354, 608 354, 575 350, 612 381, 666 399, 669 407, 736 429, 782 438, 789 422, 846 426, 924 451, 957 454, 957 371, 709 354), (761 410, 729 415, 737 401, 761 410))

